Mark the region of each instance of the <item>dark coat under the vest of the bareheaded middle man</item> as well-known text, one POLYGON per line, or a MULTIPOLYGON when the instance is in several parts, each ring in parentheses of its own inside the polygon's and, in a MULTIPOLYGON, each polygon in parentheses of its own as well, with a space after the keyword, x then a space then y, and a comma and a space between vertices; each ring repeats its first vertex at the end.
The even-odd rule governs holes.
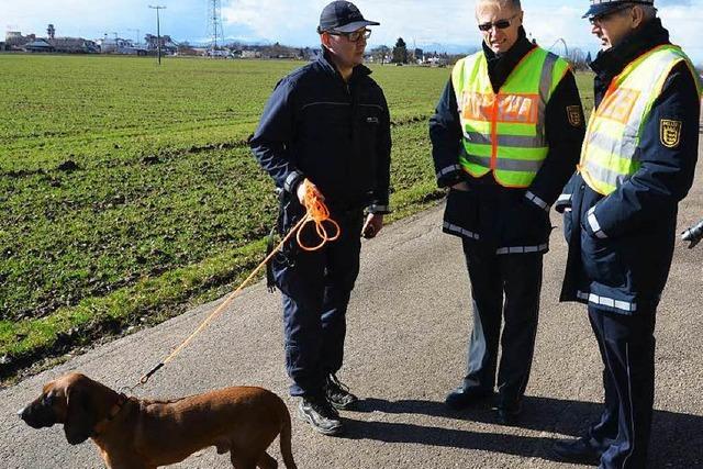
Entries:
MULTIPOLYGON (((521 31, 515 45, 500 56, 483 45, 489 77, 495 92, 533 47, 524 31, 521 31)), ((450 187, 459 181, 467 181, 471 190, 449 192, 445 210, 445 232, 458 234, 456 230, 447 230, 448 223, 457 225, 461 228, 464 238, 487 243, 500 249, 501 254, 518 252, 523 247, 538 252, 547 250, 551 231, 548 210, 573 174, 584 132, 583 111, 576 79, 573 74, 568 71, 546 107, 546 138, 549 153, 532 186, 527 189, 505 188, 498 185, 492 172, 482 178, 473 178, 459 166, 464 133, 457 97, 449 79, 437 103, 435 115, 429 120, 437 185, 450 187), (471 237, 471 234, 476 237, 471 237)))

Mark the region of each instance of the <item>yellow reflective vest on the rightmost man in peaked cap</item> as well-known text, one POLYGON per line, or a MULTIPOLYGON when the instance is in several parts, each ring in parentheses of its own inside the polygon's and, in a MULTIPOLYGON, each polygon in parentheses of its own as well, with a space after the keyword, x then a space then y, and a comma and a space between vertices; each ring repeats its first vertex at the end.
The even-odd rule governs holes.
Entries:
MULTIPOLYGON (((613 78, 600 105, 591 113, 581 148, 579 171, 591 189, 609 196, 637 172, 641 131, 671 69, 681 62, 691 69, 700 97, 698 74, 689 57, 674 45, 655 47, 613 78)), ((679 145, 682 124, 662 120, 660 138, 665 146, 679 145)))

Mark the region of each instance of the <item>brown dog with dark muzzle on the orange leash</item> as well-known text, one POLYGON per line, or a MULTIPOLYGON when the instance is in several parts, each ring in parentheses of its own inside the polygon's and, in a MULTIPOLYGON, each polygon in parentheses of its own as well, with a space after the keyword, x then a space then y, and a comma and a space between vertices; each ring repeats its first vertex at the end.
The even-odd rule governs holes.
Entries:
POLYGON ((266 449, 278 434, 286 467, 295 468, 288 409, 278 395, 261 388, 146 401, 70 373, 45 384, 20 417, 34 428, 63 423, 71 445, 90 437, 110 469, 167 466, 208 446, 215 446, 219 454, 230 451, 237 469, 277 468, 266 449))

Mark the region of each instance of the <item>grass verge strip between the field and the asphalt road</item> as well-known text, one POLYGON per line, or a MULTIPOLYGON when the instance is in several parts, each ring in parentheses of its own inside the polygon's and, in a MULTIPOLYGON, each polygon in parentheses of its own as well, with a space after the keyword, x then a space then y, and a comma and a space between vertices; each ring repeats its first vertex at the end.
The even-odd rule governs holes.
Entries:
MULTIPOLYGON (((417 213, 444 197, 429 163, 426 119, 394 126, 394 208, 388 222, 417 213), (402 156, 401 156, 402 155, 402 156)), ((11 384, 26 373, 56 365, 107 338, 158 324, 196 304, 233 290, 265 257, 266 239, 226 249, 204 260, 144 276, 108 294, 85 298, 42 317, 0 321, 0 380, 11 384)))

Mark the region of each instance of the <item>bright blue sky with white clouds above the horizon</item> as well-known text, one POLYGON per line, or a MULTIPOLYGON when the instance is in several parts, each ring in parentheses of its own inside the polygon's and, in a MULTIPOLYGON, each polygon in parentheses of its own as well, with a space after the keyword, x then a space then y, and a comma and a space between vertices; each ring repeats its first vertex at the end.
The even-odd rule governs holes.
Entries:
MULTIPOLYGON (((222 0, 224 34, 245 41, 268 41, 314 46, 315 26, 327 0, 222 0)), ((370 46, 392 46, 402 36, 409 46, 479 44, 475 1, 467 0, 357 0, 367 19, 379 21, 370 46)), ((523 0, 525 27, 540 45, 563 38, 569 47, 598 49, 587 20, 588 0, 523 0)), ((672 41, 703 64, 703 0, 656 0, 672 41)), ((0 27, 46 35, 53 23, 58 36, 135 38, 156 34, 156 15, 148 5, 161 4, 161 33, 176 41, 204 42, 208 37, 208 0, 0 0, 0 27), (149 3, 152 1, 152 3, 149 3)), ((556 46, 561 53, 562 47, 556 46)))

